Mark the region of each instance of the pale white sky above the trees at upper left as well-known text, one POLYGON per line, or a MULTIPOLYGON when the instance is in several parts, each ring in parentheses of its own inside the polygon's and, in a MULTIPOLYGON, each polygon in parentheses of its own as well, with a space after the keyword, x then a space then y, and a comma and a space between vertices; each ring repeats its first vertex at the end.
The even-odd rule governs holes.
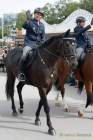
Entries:
POLYGON ((17 13, 28 9, 33 12, 37 7, 43 7, 46 3, 54 3, 56 1, 58 0, 0 0, 0 14, 17 13))

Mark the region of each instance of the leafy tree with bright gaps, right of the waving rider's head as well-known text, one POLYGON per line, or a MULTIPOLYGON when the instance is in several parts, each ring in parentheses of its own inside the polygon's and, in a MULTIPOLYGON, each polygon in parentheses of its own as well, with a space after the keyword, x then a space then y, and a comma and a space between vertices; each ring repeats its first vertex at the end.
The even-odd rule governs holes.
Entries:
POLYGON ((46 4, 43 7, 45 14, 45 20, 49 24, 55 24, 62 22, 68 15, 79 7, 79 3, 70 2, 66 0, 59 0, 56 4, 46 4))

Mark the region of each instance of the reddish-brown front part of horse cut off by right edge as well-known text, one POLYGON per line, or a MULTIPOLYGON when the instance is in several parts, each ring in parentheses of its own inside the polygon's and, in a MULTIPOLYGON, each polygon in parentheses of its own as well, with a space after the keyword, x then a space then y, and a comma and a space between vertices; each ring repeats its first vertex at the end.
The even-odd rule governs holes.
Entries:
MULTIPOLYGON (((87 49, 84 63, 76 71, 76 79, 79 82, 78 88, 80 93, 85 85, 87 94, 86 108, 93 105, 93 47, 87 49)), ((83 114, 79 111, 79 116, 83 114)))

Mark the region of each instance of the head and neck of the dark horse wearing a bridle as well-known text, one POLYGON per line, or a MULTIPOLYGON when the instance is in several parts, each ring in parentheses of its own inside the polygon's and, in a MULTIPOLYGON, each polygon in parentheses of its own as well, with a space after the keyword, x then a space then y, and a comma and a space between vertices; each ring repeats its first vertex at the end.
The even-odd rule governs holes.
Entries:
MULTIPOLYGON (((70 30, 60 35, 52 36, 46 42, 44 42, 44 49, 51 54, 51 56, 63 57, 68 61, 71 66, 77 65, 76 61, 76 41, 75 38, 69 38, 70 30)), ((42 47, 43 48, 43 47, 42 47)))

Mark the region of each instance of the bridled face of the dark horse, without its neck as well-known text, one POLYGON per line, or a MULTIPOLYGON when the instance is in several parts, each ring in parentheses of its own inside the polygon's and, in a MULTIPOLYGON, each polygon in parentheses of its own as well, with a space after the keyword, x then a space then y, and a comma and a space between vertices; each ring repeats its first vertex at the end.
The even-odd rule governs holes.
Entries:
POLYGON ((76 59, 76 40, 75 38, 63 37, 61 39, 61 56, 64 57, 66 62, 71 66, 72 69, 75 69, 78 62, 76 59))

